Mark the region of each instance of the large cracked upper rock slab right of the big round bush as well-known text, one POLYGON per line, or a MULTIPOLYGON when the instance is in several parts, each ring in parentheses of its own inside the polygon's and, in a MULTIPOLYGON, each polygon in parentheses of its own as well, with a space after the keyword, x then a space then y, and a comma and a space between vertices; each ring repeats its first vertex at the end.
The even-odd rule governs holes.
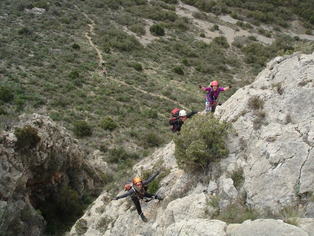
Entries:
POLYGON ((313 65, 314 54, 275 58, 215 112, 234 129, 230 155, 221 164, 244 169, 243 189, 252 207, 278 211, 314 190, 313 65), (259 110, 250 106, 254 98, 262 104, 259 110))

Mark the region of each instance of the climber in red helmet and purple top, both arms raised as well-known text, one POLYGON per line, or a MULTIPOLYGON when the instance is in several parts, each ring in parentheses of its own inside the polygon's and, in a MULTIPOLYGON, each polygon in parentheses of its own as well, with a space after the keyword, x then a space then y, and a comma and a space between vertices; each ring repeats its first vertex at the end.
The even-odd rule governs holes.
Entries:
MULTIPOLYGON (((218 84, 218 81, 216 80, 210 83, 210 87, 203 87, 200 84, 198 85, 198 88, 202 89, 203 91, 208 91, 206 95, 206 101, 205 101, 206 113, 209 111, 215 112, 217 102, 218 102, 219 92, 228 91, 230 88, 233 87, 233 84, 229 84, 228 87, 218 87, 218 86, 219 84, 218 84)), ((218 105, 220 106, 221 103, 219 103, 218 105)))

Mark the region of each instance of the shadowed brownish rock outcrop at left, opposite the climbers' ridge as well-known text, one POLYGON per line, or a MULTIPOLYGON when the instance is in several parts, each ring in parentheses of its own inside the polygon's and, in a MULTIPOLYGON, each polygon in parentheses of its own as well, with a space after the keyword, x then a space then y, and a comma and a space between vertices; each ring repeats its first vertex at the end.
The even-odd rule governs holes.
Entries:
POLYGON ((6 235, 41 235, 46 222, 34 209, 48 205, 62 186, 71 185, 78 195, 99 188, 99 179, 81 170, 88 163, 78 140, 47 116, 24 114, 18 125, 1 131, 0 162, 0 232, 6 235))

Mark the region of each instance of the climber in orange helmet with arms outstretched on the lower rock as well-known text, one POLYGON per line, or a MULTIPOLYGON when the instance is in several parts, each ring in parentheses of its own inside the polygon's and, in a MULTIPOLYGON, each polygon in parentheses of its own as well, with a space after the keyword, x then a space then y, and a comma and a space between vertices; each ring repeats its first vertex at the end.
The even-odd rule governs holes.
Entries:
POLYGON ((159 170, 152 177, 150 177, 149 179, 145 181, 143 181, 140 177, 135 177, 129 185, 125 185, 126 190, 128 189, 127 186, 129 186, 130 188, 127 193, 111 198, 109 199, 109 201, 118 200, 120 198, 125 198, 131 195, 130 197, 133 203, 135 204, 136 210, 138 211, 138 215, 141 216, 143 222, 147 222, 146 217, 143 215, 139 200, 143 199, 144 197, 150 198, 150 200, 152 199, 163 200, 163 198, 160 196, 157 196, 157 194, 151 194, 144 190, 144 186, 150 183, 151 181, 153 181, 154 178, 156 178, 156 176, 160 173, 161 169, 162 169, 162 166, 159 167, 159 170))

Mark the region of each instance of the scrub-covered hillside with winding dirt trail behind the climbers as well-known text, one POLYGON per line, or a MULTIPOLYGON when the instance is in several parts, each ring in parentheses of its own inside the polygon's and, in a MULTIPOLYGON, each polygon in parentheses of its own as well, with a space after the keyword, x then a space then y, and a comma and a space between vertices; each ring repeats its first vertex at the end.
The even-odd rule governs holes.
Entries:
POLYGON ((313 51, 310 1, 259 1, 258 9, 253 2, 1 1, 0 128, 22 113, 49 115, 79 139, 87 159, 100 150, 110 163, 104 183, 117 183, 138 158, 171 141, 173 108, 204 110, 198 83, 233 83, 220 93, 224 102, 278 52, 313 51), (200 11, 179 14, 193 6, 200 11), (225 28, 239 35, 228 38, 225 28))

